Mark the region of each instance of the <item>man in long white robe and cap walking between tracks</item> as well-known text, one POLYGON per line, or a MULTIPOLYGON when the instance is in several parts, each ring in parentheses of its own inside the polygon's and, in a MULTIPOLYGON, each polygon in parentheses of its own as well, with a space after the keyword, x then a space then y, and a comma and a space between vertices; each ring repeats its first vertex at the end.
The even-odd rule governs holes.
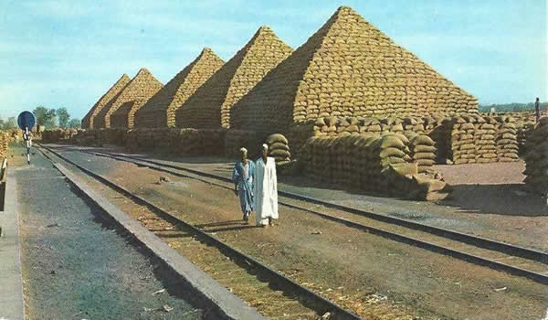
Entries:
POLYGON ((262 145, 262 155, 255 163, 255 217, 260 227, 273 226, 272 219, 278 219, 278 179, 276 162, 269 157, 269 145, 262 145))

